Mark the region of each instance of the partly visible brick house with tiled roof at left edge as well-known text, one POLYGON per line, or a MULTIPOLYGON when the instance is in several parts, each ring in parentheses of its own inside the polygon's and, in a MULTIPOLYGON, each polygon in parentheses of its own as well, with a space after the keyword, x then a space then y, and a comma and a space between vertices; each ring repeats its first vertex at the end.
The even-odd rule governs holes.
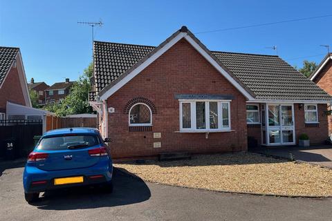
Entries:
POLYGON ((6 119, 7 102, 31 106, 19 48, 0 47, 0 119, 6 119))

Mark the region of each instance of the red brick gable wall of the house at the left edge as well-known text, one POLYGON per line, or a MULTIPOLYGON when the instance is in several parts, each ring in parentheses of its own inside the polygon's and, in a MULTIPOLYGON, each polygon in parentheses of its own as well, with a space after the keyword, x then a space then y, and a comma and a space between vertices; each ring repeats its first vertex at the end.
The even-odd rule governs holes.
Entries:
POLYGON ((10 69, 0 88, 0 112, 6 113, 7 101, 15 104, 26 105, 17 68, 10 69))

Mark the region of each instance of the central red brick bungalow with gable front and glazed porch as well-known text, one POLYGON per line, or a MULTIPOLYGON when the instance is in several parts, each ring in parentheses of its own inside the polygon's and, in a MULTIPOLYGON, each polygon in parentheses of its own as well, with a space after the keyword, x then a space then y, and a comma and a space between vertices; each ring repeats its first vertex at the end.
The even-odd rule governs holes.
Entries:
POLYGON ((157 47, 95 41, 93 55, 90 104, 114 158, 328 136, 332 97, 278 56, 211 51, 185 26, 157 47))

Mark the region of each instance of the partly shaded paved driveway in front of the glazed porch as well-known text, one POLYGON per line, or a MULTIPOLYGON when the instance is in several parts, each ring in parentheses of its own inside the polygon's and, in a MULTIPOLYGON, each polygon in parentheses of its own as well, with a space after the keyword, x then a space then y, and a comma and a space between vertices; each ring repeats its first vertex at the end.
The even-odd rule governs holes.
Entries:
POLYGON ((273 155, 277 157, 284 157, 293 160, 302 160, 312 164, 319 164, 322 166, 332 168, 332 146, 280 146, 280 147, 261 147, 249 150, 253 153, 262 153, 264 155, 273 155))

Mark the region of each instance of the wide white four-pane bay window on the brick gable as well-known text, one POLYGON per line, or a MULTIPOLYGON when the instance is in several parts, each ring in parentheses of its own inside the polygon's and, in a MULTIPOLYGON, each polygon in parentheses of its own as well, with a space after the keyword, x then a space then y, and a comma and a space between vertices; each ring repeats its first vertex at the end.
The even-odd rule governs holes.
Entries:
POLYGON ((180 131, 230 131, 230 101, 180 101, 180 131))

